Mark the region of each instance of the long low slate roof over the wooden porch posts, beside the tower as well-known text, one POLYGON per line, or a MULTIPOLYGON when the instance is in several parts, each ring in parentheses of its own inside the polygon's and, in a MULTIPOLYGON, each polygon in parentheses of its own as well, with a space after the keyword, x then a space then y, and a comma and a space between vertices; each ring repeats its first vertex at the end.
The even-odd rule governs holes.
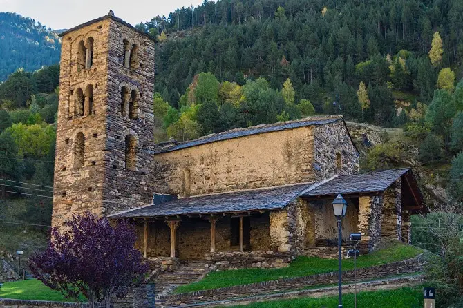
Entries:
POLYGON ((278 186, 270 189, 253 189, 232 193, 217 193, 181 198, 162 204, 110 215, 110 218, 143 218, 171 215, 237 213, 245 211, 283 209, 313 183, 278 186))

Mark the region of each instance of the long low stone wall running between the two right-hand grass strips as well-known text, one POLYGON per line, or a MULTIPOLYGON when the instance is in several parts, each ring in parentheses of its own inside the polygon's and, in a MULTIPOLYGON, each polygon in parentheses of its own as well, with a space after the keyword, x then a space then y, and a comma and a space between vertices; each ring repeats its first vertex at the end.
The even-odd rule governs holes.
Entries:
MULTIPOLYGON (((408 260, 357 269, 357 281, 371 278, 384 278, 404 273, 415 273, 417 271, 422 271, 424 263, 425 259, 421 254, 408 260)), ((342 280, 344 283, 353 282, 354 271, 343 271, 342 280)), ((337 281, 338 273, 337 271, 333 271, 330 273, 321 273, 305 277, 283 278, 247 285, 237 285, 233 287, 170 294, 158 297, 156 299, 156 305, 159 307, 169 307, 171 305, 178 306, 180 305, 179 303, 193 304, 196 302, 226 300, 229 298, 240 298, 245 296, 258 296, 265 293, 274 293, 275 291, 290 291, 314 285, 327 285, 336 283, 337 281)))

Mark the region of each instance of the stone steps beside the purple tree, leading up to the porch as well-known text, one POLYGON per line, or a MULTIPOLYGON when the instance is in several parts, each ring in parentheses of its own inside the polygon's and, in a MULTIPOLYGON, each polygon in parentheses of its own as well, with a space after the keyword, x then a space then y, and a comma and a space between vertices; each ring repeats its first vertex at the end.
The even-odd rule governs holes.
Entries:
POLYGON ((160 271, 154 278, 155 296, 164 296, 180 285, 187 285, 204 277, 209 270, 202 261, 180 261, 175 271, 160 271))

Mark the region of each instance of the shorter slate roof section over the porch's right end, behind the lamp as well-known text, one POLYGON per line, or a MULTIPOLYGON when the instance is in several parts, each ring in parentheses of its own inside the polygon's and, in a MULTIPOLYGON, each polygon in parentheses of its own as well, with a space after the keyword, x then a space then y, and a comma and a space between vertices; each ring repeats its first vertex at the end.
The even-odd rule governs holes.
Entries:
POLYGON ((410 171, 409 168, 375 171, 364 174, 340 175, 329 182, 303 193, 303 196, 336 195, 337 193, 375 193, 385 191, 395 180, 410 171))

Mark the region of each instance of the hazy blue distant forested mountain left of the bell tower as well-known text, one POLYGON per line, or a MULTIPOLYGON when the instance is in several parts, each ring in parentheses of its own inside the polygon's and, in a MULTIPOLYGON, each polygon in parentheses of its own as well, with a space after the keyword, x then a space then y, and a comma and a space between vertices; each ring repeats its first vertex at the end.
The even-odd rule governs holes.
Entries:
POLYGON ((33 71, 57 64, 60 48, 59 37, 51 29, 21 15, 0 12, 0 81, 17 68, 33 71))

